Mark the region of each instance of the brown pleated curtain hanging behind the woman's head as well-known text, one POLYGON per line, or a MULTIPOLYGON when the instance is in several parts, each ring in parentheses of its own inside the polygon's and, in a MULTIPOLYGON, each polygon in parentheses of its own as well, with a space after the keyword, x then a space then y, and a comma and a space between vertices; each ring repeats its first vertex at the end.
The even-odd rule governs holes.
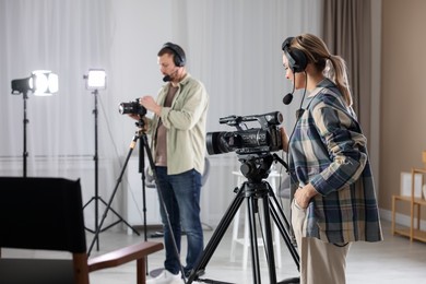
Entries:
POLYGON ((346 60, 354 109, 368 138, 372 96, 370 0, 324 0, 322 28, 330 52, 346 60))

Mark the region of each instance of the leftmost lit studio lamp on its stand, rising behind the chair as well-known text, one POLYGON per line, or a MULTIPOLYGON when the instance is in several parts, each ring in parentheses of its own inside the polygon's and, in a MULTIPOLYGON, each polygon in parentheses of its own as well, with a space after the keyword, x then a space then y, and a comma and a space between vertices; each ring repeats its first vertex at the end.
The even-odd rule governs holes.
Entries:
POLYGON ((26 118, 26 100, 28 99, 28 91, 32 91, 36 96, 49 96, 58 92, 58 75, 51 73, 49 70, 33 71, 29 78, 12 80, 12 95, 22 94, 23 102, 23 177, 26 178, 26 159, 28 152, 26 151, 26 125, 29 120, 26 118))

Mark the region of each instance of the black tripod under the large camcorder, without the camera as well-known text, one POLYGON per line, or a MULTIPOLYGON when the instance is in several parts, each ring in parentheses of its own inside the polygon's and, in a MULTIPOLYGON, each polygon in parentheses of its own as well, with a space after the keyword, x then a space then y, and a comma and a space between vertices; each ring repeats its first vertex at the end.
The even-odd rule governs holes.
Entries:
MULTIPOLYGON (((204 270, 210 259, 212 258, 215 249, 222 240, 226 229, 233 221, 242 201, 247 200, 247 210, 249 214, 249 229, 250 229, 250 247, 251 247, 251 260, 252 260, 252 276, 253 283, 261 283, 260 277, 260 263, 259 263, 259 249, 257 244, 257 230, 256 230, 256 213, 258 213, 258 201, 262 200, 263 205, 263 222, 264 222, 264 246, 265 255, 269 269, 270 283, 299 283, 298 277, 284 280, 276 282, 275 272, 275 259, 273 253, 273 240, 271 229, 271 217, 277 226, 281 236, 283 237, 288 251, 291 252, 293 260, 299 270, 299 256, 296 248, 292 244, 292 239, 288 235, 287 228, 289 227, 288 221, 286 220, 283 210, 268 181, 262 179, 268 178, 269 169, 274 159, 277 159, 283 166, 286 166, 284 161, 277 157, 275 154, 259 154, 259 155, 242 155, 239 161, 242 163, 240 170, 242 175, 248 179, 240 188, 236 188, 236 197, 228 206, 225 215, 222 217, 216 230, 213 233, 208 246, 204 249, 201 259, 197 267, 193 269, 187 283, 192 281, 201 281, 204 283, 224 283, 215 282, 212 280, 200 280, 199 276, 204 274, 204 270), (285 226, 284 226, 285 223, 285 226)), ((279 240, 276 240, 279 241, 279 240)))

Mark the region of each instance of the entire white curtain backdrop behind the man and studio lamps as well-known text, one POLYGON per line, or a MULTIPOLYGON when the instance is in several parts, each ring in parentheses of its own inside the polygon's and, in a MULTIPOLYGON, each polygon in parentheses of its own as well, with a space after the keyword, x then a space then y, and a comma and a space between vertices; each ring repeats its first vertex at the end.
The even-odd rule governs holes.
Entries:
MULTIPOLYGON (((229 115, 280 110, 293 128, 298 96, 284 78, 281 43, 319 34, 317 0, 0 0, 0 174, 22 175, 23 95, 11 80, 49 69, 59 93, 27 99, 28 176, 81 178, 84 199, 94 193, 94 94, 85 90, 90 68, 107 71, 98 97, 99 194, 106 200, 121 171, 135 127, 118 104, 156 95, 162 75, 156 52, 174 42, 187 52, 188 70, 210 94, 208 131, 229 115)), ((149 114, 150 115, 150 114, 149 114)), ((259 127, 259 126, 256 126, 259 127)), ((139 153, 137 149, 134 155, 139 153)), ((133 155, 133 156, 134 156, 133 155)), ((203 196, 204 217, 224 213, 233 197, 235 153, 213 155, 203 196)), ((126 186, 126 176, 122 181, 126 186)), ((121 210, 122 202, 116 202, 121 210)), ((90 215, 90 214, 88 214, 90 215)), ((87 214, 86 214, 87 216, 87 214)))

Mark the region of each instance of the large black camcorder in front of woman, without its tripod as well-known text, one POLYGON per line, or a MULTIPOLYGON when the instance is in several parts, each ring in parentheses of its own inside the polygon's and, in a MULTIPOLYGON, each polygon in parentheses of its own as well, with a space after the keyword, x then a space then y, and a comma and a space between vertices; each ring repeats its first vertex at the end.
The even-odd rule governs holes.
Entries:
POLYGON ((228 116, 218 122, 234 126, 234 132, 209 132, 206 147, 210 155, 235 151, 239 155, 268 153, 282 149, 279 125, 283 121, 280 111, 253 116, 228 116), (247 129, 244 122, 259 121, 261 128, 247 129), (242 129, 242 128, 246 129, 242 129))

